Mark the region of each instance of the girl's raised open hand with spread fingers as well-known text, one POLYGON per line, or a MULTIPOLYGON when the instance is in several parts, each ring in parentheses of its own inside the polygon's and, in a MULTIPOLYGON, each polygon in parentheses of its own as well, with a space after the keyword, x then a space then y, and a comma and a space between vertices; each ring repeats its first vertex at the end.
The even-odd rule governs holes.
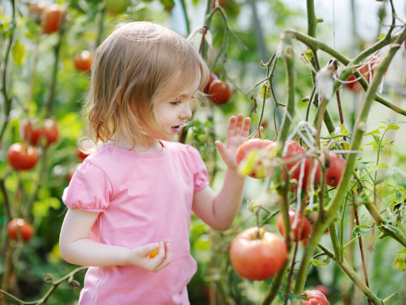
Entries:
POLYGON ((249 117, 244 119, 244 115, 241 113, 237 117, 231 116, 228 122, 226 145, 224 146, 222 142, 216 141, 220 156, 230 169, 236 169, 238 166, 235 153, 249 136, 250 124, 251 119, 249 117))

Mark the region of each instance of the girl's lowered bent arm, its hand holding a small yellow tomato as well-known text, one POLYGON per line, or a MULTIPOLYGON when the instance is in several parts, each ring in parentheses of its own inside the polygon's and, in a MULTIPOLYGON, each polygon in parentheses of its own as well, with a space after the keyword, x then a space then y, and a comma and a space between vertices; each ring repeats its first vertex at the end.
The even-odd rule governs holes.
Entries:
POLYGON ((153 242, 133 249, 91 240, 90 231, 98 214, 79 208, 67 210, 59 236, 59 249, 64 260, 83 266, 136 265, 154 272, 171 262, 170 240, 153 242), (150 258, 148 254, 158 247, 158 254, 150 258))

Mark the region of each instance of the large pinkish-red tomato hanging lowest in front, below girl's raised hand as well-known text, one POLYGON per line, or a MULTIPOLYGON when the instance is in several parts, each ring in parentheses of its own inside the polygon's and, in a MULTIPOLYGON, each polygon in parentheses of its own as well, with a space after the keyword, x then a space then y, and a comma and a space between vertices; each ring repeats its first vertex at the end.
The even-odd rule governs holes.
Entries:
POLYGON ((285 264, 287 253, 285 242, 277 234, 258 227, 237 234, 229 249, 235 271, 252 281, 273 277, 285 264))

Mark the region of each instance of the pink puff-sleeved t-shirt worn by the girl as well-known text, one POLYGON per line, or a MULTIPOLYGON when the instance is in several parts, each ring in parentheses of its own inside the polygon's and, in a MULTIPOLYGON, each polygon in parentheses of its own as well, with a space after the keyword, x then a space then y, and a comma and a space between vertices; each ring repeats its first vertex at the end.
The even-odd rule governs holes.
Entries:
POLYGON ((62 196, 70 208, 100 212, 91 238, 127 248, 171 239, 172 262, 158 272, 136 266, 89 267, 79 304, 189 304, 197 269, 189 251, 193 193, 208 186, 197 149, 161 141, 136 154, 104 144, 79 166, 62 196))

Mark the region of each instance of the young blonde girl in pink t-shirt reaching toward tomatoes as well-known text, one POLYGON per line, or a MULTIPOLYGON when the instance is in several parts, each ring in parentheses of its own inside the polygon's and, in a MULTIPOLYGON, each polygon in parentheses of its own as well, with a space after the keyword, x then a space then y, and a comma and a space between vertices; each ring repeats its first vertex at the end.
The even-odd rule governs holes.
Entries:
POLYGON ((208 74, 185 39, 149 22, 120 25, 97 48, 87 116, 101 144, 64 190, 59 240, 67 262, 90 266, 80 304, 189 304, 191 211, 231 226, 245 183, 235 151, 250 127, 233 116, 226 145, 216 141, 227 165, 216 195, 197 149, 171 142, 208 74))

